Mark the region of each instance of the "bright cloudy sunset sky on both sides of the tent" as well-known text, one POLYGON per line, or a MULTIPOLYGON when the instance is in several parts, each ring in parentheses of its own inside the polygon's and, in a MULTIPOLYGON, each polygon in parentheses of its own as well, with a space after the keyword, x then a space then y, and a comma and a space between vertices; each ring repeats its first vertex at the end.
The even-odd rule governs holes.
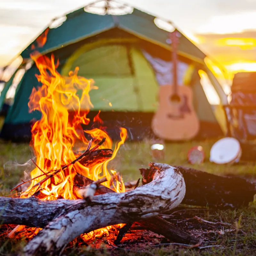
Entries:
MULTIPOLYGON (((1 1, 0 67, 8 64, 34 40, 52 18, 91 2, 93 1, 1 1)), ((254 65, 256 69, 254 62, 256 42, 253 41, 256 31, 256 0, 122 0, 119 2, 172 20, 185 35, 197 43, 199 48, 224 64, 245 63, 246 66, 251 63, 251 67, 254 65), (226 36, 227 33, 232 35, 226 36), (247 41, 244 39, 244 33, 247 33, 247 41), (225 37, 233 39, 227 41, 225 37), (248 38, 251 40, 249 43, 248 38), (227 46, 228 49, 225 48, 227 46), (220 49, 224 49, 223 53, 220 49)))

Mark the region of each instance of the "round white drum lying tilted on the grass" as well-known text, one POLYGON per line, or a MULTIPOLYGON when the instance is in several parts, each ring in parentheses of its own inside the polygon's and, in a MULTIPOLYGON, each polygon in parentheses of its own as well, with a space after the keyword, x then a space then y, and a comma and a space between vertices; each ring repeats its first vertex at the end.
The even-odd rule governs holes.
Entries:
MULTIPOLYGON (((215 164, 228 164, 240 158, 241 147, 238 140, 227 137, 214 143, 210 151, 210 161, 215 164)), ((239 159, 238 159, 239 160, 239 159)))

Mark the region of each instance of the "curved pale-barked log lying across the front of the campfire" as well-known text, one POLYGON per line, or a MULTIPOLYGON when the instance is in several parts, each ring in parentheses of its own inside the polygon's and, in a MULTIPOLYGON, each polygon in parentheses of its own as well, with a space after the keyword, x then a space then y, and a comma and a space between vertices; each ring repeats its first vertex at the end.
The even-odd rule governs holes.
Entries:
POLYGON ((178 206, 186 191, 180 171, 168 164, 150 165, 157 169, 150 183, 125 193, 94 196, 90 205, 52 220, 27 244, 25 255, 60 255, 83 233, 151 218, 178 206))

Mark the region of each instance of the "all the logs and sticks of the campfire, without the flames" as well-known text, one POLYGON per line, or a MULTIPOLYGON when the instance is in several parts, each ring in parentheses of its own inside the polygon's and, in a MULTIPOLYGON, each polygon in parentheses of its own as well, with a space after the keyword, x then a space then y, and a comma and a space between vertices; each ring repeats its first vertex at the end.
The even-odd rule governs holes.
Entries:
MULTIPOLYGON (((77 162, 89 167, 110 158, 111 149, 99 149, 104 142, 105 139, 91 148, 90 141, 83 154, 61 169, 41 170, 44 178, 32 187, 36 189, 33 195, 0 197, 1 223, 17 225, 7 234, 9 238, 15 238, 26 227, 35 228, 33 239, 24 248, 25 255, 60 255, 73 239, 120 223, 113 246, 122 244, 126 233, 136 228, 152 231, 174 243, 199 246, 200 237, 178 228, 164 216, 180 204, 237 208, 253 200, 255 185, 244 179, 153 162, 148 169, 140 169, 141 182, 139 179, 125 184, 124 193, 103 186, 106 178, 93 181, 76 173, 72 184, 76 199, 42 200, 42 185, 60 171, 77 162)), ((29 182, 22 180, 12 190, 29 182)))

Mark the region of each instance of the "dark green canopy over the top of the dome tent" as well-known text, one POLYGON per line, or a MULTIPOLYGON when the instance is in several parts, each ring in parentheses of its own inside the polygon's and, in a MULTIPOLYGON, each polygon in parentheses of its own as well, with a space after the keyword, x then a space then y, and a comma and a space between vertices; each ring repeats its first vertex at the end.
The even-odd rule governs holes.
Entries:
MULTIPOLYGON (((35 40, 21 53, 21 56, 28 59, 30 58, 29 54, 35 50, 46 54, 111 28, 120 28, 139 38, 171 49, 170 44, 166 41, 169 39, 169 32, 156 26, 154 22, 156 17, 137 9, 134 9, 131 14, 125 15, 98 15, 85 12, 84 8, 81 8, 67 14, 66 17, 67 19, 59 27, 49 30, 47 28, 47 41, 43 47, 36 47, 37 42, 35 40)), ((187 37, 181 34, 179 41, 179 54, 181 56, 203 63, 206 55, 187 37)))

